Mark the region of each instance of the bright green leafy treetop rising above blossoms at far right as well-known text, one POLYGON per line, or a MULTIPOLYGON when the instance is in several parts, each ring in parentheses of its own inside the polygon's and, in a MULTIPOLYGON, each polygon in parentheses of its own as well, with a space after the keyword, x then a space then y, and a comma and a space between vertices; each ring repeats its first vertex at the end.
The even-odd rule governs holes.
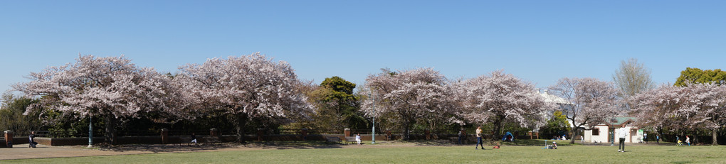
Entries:
POLYGON ((695 67, 686 67, 681 71, 681 75, 676 79, 675 86, 687 86, 688 83, 716 83, 722 85, 726 83, 726 71, 701 70, 695 67))

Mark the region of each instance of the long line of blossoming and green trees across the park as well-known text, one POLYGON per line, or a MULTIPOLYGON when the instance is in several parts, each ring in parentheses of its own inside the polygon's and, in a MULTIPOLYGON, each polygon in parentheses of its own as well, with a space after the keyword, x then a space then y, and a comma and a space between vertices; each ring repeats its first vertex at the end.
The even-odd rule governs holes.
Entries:
MULTIPOLYGON (((32 81, 17 83, 13 89, 32 100, 26 102, 25 115, 101 118, 105 141, 110 144, 115 141, 117 128, 140 118, 164 123, 223 120, 234 127, 237 142, 245 142, 245 129, 250 126, 370 128, 374 116, 377 126, 400 128, 403 139, 410 138, 412 128, 473 125, 491 126, 492 139, 496 139, 503 126, 542 128, 554 111, 562 111, 574 123, 571 135, 578 135, 578 128, 592 127, 628 113, 643 119, 641 126, 681 129, 656 123, 658 119, 653 119, 653 115, 644 114, 664 109, 655 100, 648 102, 649 99, 676 89, 661 87, 650 91, 650 73, 643 69, 637 60, 622 62, 621 70, 613 75, 613 81, 619 82, 617 86, 595 78, 562 78, 549 87, 553 95, 570 104, 548 102, 535 91, 534 84, 503 70, 449 80, 432 68, 382 69, 381 73, 369 75, 355 92, 355 83, 337 76, 326 78, 320 85, 302 81, 287 62, 274 62, 259 53, 182 65, 174 75, 136 67, 123 56, 79 56, 75 63, 30 73, 32 81), (624 79, 631 76, 620 74, 648 77, 627 83, 627 79, 633 78, 624 79)), ((681 108, 669 108, 667 113, 677 111, 677 117, 661 117, 692 120, 679 122, 688 125, 680 127, 711 129, 715 142, 716 131, 726 122, 722 113, 726 101, 715 98, 722 96, 719 91, 724 87, 696 83, 690 86, 696 87, 688 92, 690 97, 700 99, 690 99, 692 103, 680 104, 681 108), (686 106, 691 110, 682 109, 686 106)), ((571 139, 574 142, 574 137, 571 139)))

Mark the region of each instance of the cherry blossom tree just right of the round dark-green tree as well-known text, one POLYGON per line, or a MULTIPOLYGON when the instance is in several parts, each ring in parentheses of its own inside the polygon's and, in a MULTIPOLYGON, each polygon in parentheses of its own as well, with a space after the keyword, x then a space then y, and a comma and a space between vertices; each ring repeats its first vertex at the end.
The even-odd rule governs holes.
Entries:
POLYGON ((419 118, 445 118, 456 107, 452 89, 446 78, 432 68, 394 73, 384 70, 366 78, 364 90, 372 91, 373 99, 364 99, 362 111, 367 116, 395 115, 393 122, 403 128, 404 139, 419 118), (375 110, 374 110, 375 105, 375 110))

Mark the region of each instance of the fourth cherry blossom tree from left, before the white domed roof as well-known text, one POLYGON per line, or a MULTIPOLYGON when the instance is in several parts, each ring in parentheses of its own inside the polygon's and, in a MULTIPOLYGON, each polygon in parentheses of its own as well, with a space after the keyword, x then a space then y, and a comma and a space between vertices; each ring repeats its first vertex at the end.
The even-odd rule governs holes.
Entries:
POLYGON ((507 121, 523 127, 544 126, 544 112, 555 108, 544 101, 533 84, 502 70, 462 81, 457 88, 463 91, 460 117, 480 125, 492 123, 494 139, 501 136, 502 124, 507 121))

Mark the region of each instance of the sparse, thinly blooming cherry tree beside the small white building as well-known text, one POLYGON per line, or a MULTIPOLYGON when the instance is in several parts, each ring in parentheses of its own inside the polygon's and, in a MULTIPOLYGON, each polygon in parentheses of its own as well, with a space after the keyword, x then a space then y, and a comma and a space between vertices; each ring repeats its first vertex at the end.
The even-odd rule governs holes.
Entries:
MULTIPOLYGON (((578 135, 578 128, 604 123, 618 114, 619 90, 612 83, 596 78, 561 78, 550 86, 550 94, 572 103, 561 109, 574 125, 573 136, 578 135)), ((570 143, 575 143, 575 137, 570 143)))

